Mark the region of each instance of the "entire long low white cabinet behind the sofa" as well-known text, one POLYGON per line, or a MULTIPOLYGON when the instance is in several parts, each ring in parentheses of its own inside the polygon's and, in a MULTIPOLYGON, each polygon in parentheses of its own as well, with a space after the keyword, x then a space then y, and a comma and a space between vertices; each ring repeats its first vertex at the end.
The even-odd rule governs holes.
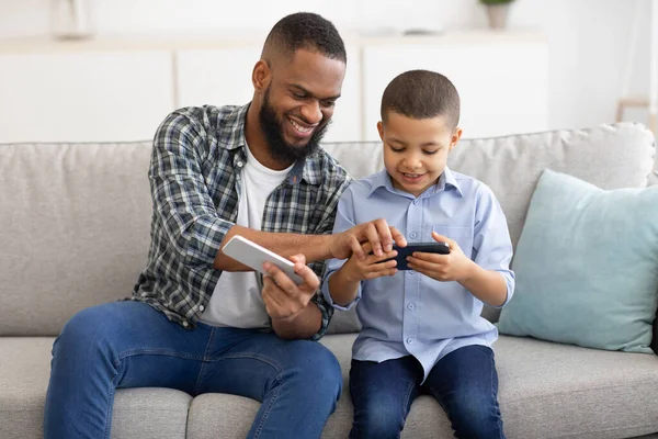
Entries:
MULTIPOLYGON (((547 48, 536 34, 345 40, 348 70, 328 142, 378 138, 386 85, 426 68, 462 97, 465 137, 547 130, 547 48)), ((151 138, 170 111, 245 104, 262 38, 0 41, 0 143, 151 138)))

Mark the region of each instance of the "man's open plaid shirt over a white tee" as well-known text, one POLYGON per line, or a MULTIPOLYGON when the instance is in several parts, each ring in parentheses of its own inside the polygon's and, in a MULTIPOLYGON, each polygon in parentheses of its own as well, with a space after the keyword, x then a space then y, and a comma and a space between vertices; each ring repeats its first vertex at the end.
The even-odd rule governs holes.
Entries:
MULTIPOLYGON (((154 139, 149 180, 154 213, 146 269, 133 300, 195 327, 222 275, 213 262, 238 215, 240 169, 247 162, 245 106, 174 111, 154 139)), ((297 161, 265 203, 261 229, 330 234, 338 200, 350 183, 347 171, 324 149, 297 161)), ((322 279, 325 262, 309 264, 322 279)), ((320 338, 333 313, 321 294, 320 338)))

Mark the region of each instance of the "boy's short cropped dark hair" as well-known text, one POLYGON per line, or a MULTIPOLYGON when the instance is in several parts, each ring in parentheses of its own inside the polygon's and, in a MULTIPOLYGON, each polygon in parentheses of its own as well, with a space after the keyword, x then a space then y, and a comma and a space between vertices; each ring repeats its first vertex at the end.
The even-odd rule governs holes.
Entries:
POLYGON ((384 90, 384 123, 390 111, 411 119, 443 116, 455 128, 460 123, 460 93, 451 80, 441 74, 430 70, 405 71, 384 90))

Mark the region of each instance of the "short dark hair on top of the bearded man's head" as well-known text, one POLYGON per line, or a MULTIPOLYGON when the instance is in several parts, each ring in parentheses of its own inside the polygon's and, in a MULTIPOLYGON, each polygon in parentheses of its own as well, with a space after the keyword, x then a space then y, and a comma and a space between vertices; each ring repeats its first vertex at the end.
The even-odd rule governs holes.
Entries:
POLYGON ((348 61, 345 45, 336 26, 310 12, 291 14, 274 24, 261 57, 271 63, 270 56, 290 57, 298 49, 317 50, 328 58, 348 61))

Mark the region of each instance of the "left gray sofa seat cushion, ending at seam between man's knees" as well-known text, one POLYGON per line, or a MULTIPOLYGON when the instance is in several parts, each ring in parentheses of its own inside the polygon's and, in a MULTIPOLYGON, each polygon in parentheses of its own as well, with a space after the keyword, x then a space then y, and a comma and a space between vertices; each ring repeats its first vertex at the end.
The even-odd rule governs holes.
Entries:
MULTIPOLYGON (((43 437, 53 341, 49 337, 0 337, 0 438, 43 437)), ((191 399, 169 389, 118 390, 112 438, 184 438, 191 399)))

